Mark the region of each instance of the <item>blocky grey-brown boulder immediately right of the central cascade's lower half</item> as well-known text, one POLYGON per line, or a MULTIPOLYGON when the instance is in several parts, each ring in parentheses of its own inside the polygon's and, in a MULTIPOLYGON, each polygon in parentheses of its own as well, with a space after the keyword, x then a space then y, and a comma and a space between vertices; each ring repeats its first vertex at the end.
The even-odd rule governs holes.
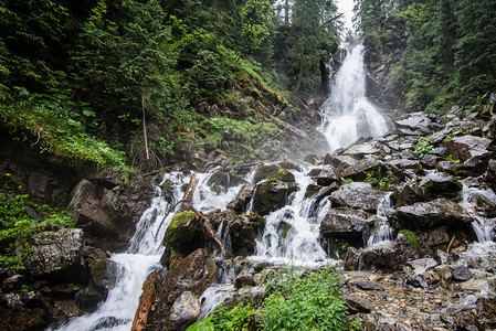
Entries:
POLYGON ((320 233, 342 238, 351 245, 362 245, 363 231, 370 216, 360 210, 330 209, 320 223, 320 233))

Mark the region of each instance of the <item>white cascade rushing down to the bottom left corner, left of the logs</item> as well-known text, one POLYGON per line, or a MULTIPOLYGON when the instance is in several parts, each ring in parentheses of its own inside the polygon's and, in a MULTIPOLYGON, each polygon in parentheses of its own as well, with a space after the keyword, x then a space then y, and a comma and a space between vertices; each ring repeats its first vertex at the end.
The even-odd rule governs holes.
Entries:
MULTIPOLYGON (((166 174, 162 183, 172 182, 172 200, 177 201, 182 195, 180 188, 187 183, 187 180, 182 173, 175 172, 166 174)), ((159 260, 163 252, 160 238, 173 215, 173 213, 166 214, 176 201, 167 202, 159 188, 162 183, 155 188, 155 197, 136 225, 136 233, 129 242, 127 252, 116 254, 110 259, 116 265, 117 273, 115 275, 116 284, 108 292, 107 299, 99 303, 94 313, 71 319, 55 330, 130 330, 139 303, 143 282, 152 269, 160 268, 159 260), (163 224, 160 226, 162 221, 163 224), (157 231, 159 231, 157 236, 159 239, 155 238, 157 231)), ((49 328, 49 330, 52 329, 49 328)))

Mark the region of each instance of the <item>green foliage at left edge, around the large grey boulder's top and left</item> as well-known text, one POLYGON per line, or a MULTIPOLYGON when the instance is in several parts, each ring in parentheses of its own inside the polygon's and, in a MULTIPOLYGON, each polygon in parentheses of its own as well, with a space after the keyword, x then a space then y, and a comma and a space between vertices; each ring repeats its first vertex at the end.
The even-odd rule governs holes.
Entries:
POLYGON ((22 259, 30 253, 33 234, 60 227, 73 227, 66 211, 56 211, 30 200, 28 194, 11 190, 0 193, 0 267, 19 270, 22 259), (36 211, 41 220, 32 218, 27 209, 36 211))

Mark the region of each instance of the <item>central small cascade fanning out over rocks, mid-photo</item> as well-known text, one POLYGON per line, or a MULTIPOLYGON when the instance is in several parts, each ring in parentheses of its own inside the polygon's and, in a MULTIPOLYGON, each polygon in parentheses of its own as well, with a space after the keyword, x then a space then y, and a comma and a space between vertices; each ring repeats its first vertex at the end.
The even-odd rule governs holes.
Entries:
MULTIPOLYGON (((308 171, 304 169, 303 171, 308 171)), ((303 172, 293 172, 298 191, 291 203, 266 216, 264 234, 256 241, 255 259, 268 259, 292 264, 308 264, 326 260, 326 252, 319 244, 319 226, 330 203, 324 199, 316 209, 312 199, 305 197, 312 179, 303 172), (315 211, 318 211, 315 213, 315 211), (310 213, 313 213, 310 215, 310 213)))

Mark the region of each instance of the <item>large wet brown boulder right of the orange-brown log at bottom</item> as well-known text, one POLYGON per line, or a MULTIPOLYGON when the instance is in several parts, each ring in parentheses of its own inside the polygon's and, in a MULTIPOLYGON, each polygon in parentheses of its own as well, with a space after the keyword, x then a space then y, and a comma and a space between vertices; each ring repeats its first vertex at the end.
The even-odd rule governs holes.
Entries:
POLYGON ((213 260, 209 259, 203 249, 197 249, 181 259, 157 285, 157 295, 148 317, 147 330, 183 330, 181 328, 187 328, 188 325, 184 324, 192 322, 187 317, 194 316, 194 309, 184 314, 186 319, 180 318, 179 311, 176 311, 176 316, 172 318, 172 306, 176 305, 179 310, 182 303, 178 299, 184 292, 190 293, 184 295, 182 302, 186 302, 188 298, 191 299, 192 296, 198 298, 210 285, 217 282, 218 278, 218 267, 213 260), (178 321, 181 324, 179 329, 177 329, 178 321))

